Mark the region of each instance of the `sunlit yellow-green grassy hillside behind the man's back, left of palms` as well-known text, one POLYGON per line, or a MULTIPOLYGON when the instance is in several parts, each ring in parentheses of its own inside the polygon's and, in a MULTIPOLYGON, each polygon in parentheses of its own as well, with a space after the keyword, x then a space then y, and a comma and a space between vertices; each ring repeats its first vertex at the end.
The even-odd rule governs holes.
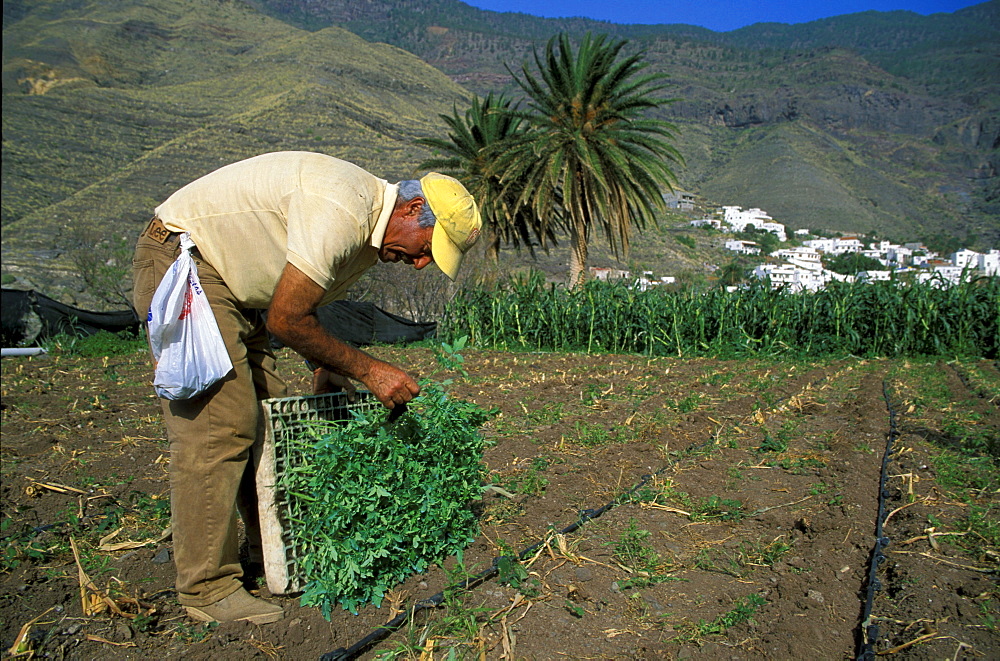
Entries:
POLYGON ((133 241, 173 190, 240 158, 322 151, 403 178, 467 99, 409 53, 242 3, 59 4, 5 17, 3 261, 29 283, 70 286, 75 251, 133 241))

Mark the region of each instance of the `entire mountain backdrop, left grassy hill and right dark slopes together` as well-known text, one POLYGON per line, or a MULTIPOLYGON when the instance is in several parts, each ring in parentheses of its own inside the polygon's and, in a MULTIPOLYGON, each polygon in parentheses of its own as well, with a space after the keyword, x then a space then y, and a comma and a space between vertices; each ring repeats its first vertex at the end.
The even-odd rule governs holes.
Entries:
MULTIPOLYGON (((444 133, 440 113, 470 92, 516 89, 508 67, 559 30, 631 39, 668 76, 678 100, 660 114, 681 129, 680 183, 705 208, 996 247, 998 9, 713 33, 457 0, 5 2, 4 276, 85 299, 80 254, 127 246, 178 186, 261 152, 322 151, 407 176, 428 155, 414 140, 444 133)), ((656 231, 634 259, 664 272, 664 250, 685 268, 718 262, 656 231)))

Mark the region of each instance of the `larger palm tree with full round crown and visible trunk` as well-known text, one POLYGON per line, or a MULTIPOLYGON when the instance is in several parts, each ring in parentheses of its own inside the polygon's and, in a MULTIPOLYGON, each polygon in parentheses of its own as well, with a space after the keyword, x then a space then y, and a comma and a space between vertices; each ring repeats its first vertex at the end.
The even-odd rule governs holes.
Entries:
POLYGON ((672 189, 671 145, 676 128, 647 116, 665 103, 662 74, 642 73, 640 54, 619 58, 625 41, 587 34, 574 53, 565 33, 553 37, 544 57, 534 53, 538 77, 511 72, 524 90, 533 130, 497 154, 494 167, 507 190, 537 218, 559 218, 572 243, 569 285, 586 277, 587 244, 600 226, 616 257, 628 255, 632 225, 655 222, 672 189))

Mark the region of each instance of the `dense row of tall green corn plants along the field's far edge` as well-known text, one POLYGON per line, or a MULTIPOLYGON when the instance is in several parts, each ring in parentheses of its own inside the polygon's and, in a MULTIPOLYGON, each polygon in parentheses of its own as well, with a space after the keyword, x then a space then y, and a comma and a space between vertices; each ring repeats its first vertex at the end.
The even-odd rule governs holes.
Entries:
POLYGON ((1000 355, 1000 278, 952 287, 834 282, 818 292, 652 288, 540 274, 465 289, 441 334, 482 348, 650 356, 1000 355))

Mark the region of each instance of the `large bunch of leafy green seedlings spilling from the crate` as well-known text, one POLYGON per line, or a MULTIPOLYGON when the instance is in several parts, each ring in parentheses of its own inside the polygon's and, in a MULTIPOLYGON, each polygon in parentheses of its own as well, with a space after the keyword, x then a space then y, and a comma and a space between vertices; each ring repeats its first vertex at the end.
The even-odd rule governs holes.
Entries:
POLYGON ((477 532, 469 503, 481 498, 493 411, 423 383, 407 413, 386 425, 384 409, 356 412, 294 442, 301 463, 280 486, 300 506, 290 532, 305 549, 303 605, 330 617, 379 604, 412 573, 465 548, 477 532))

